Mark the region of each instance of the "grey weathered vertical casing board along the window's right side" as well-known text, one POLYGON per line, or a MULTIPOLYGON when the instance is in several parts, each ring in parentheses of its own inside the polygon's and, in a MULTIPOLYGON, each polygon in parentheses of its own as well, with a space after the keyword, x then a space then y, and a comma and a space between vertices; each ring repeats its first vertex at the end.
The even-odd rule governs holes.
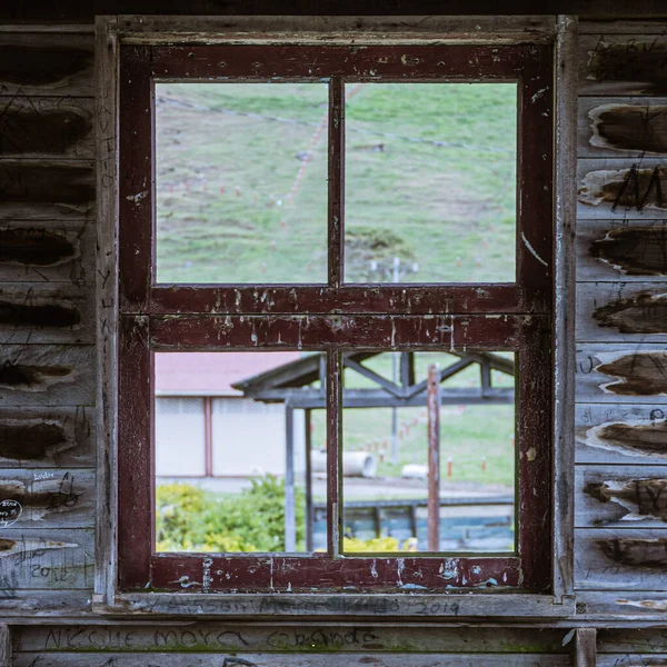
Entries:
POLYGON ((575 171, 577 151, 575 123, 577 113, 577 39, 574 17, 557 19, 556 39, 556 276, 555 276, 555 354, 554 386, 554 594, 573 594, 574 587, 574 504, 573 468, 575 461, 575 237, 577 202, 575 171))

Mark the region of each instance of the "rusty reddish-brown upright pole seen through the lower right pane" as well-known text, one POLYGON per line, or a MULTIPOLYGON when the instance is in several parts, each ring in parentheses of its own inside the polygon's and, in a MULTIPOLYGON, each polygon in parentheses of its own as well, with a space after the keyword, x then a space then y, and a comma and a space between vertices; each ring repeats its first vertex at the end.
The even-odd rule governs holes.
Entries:
POLYGON ((440 550, 440 369, 428 367, 428 550, 440 550))

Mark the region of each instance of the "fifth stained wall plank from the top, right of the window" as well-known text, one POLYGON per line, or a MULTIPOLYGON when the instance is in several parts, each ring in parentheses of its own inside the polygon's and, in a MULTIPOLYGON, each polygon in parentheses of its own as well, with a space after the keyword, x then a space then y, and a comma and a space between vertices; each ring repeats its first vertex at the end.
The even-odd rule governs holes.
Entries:
POLYGON ((579 282, 577 342, 667 341, 667 282, 579 282))

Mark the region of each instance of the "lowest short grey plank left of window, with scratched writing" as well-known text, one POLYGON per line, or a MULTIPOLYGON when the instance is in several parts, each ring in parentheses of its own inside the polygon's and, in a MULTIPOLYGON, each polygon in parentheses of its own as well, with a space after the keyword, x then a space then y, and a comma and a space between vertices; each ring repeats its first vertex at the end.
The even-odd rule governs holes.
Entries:
POLYGON ((0 530, 0 588, 88 588, 92 585, 92 530, 0 530))

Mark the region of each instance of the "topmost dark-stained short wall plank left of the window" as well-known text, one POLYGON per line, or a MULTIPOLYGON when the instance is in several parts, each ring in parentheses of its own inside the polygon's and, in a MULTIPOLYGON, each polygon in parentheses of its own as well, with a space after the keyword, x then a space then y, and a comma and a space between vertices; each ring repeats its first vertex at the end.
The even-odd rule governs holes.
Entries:
POLYGON ((0 33, 0 93, 92 97, 92 47, 88 34, 0 33))

